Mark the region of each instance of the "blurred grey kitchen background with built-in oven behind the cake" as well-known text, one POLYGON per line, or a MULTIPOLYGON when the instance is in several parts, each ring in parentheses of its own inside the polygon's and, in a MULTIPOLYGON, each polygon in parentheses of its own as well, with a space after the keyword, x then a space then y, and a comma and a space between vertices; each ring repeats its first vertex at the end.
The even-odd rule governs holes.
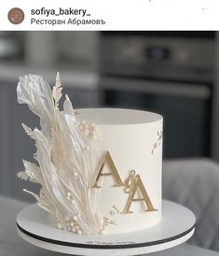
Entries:
POLYGON ((19 76, 29 73, 53 85, 59 70, 74 107, 160 113, 164 159, 219 161, 218 40, 215 32, 1 32, 0 192, 30 200, 16 177, 34 153, 21 122, 38 126, 17 103, 19 76))

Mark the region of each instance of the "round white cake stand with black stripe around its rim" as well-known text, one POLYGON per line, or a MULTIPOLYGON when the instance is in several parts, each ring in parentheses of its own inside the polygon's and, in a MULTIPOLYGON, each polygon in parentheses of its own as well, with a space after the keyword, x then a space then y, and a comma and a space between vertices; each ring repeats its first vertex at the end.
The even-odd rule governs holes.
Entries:
POLYGON ((150 253, 182 244, 193 235, 195 221, 194 214, 184 206, 163 201, 162 220, 149 229, 117 235, 75 235, 51 226, 48 214, 35 204, 21 211, 17 226, 24 240, 43 249, 75 255, 118 256, 150 253))

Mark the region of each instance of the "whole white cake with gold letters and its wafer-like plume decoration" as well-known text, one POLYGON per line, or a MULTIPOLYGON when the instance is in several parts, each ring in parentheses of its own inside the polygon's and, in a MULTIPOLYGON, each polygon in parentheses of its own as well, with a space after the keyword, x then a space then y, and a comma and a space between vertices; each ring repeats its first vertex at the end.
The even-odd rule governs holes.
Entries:
POLYGON ((59 229, 78 235, 128 233, 161 219, 162 117, 142 110, 59 108, 59 74, 20 78, 18 100, 40 118, 23 125, 37 164, 18 176, 41 184, 34 195, 59 229))

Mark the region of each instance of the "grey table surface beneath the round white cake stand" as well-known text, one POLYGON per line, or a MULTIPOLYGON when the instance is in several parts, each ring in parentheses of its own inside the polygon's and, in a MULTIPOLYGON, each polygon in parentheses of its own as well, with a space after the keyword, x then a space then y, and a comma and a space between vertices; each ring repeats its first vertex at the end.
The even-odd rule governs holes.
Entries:
MULTIPOLYGON (((0 255, 1 256, 59 256, 61 253, 39 249, 23 241, 16 230, 16 216, 26 203, 0 196, 0 255)), ((66 254, 65 254, 66 255, 66 254)), ((219 256, 218 252, 181 245, 148 256, 219 256)), ((66 255, 67 256, 67 255, 66 255)))

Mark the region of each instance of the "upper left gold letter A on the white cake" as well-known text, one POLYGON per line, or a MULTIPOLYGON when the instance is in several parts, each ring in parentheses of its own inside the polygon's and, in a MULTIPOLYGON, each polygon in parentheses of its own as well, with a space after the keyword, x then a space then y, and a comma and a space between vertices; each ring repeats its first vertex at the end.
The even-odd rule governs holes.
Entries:
POLYGON ((123 186, 123 182, 118 174, 116 165, 114 164, 114 161, 113 161, 109 151, 106 151, 105 154, 103 155, 103 159, 100 164, 97 178, 95 179, 95 182, 91 186, 91 188, 101 188, 101 186, 98 186, 98 181, 101 178, 101 176, 112 176, 114 179, 114 185, 112 187, 122 187, 123 186), (103 173, 105 164, 108 165, 110 173, 103 173))

